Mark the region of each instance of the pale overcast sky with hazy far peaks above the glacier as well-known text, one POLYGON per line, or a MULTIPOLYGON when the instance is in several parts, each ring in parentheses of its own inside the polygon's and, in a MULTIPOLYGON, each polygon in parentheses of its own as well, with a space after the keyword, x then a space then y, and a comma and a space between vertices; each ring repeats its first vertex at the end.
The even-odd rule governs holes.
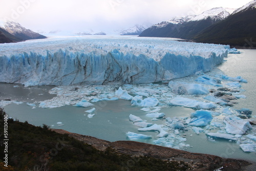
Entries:
POLYGON ((111 32, 157 24, 214 7, 240 8, 250 0, 0 0, 0 18, 33 31, 111 32))

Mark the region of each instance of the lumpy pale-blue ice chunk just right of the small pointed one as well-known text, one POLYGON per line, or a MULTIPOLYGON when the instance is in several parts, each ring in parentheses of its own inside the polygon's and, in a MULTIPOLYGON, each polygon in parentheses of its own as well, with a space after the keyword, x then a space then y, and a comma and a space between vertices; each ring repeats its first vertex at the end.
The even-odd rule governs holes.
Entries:
POLYGON ((131 101, 132 105, 138 105, 138 106, 147 107, 147 108, 157 106, 158 103, 159 103, 159 101, 157 98, 142 99, 142 96, 135 96, 135 97, 133 97, 133 99, 131 101))

